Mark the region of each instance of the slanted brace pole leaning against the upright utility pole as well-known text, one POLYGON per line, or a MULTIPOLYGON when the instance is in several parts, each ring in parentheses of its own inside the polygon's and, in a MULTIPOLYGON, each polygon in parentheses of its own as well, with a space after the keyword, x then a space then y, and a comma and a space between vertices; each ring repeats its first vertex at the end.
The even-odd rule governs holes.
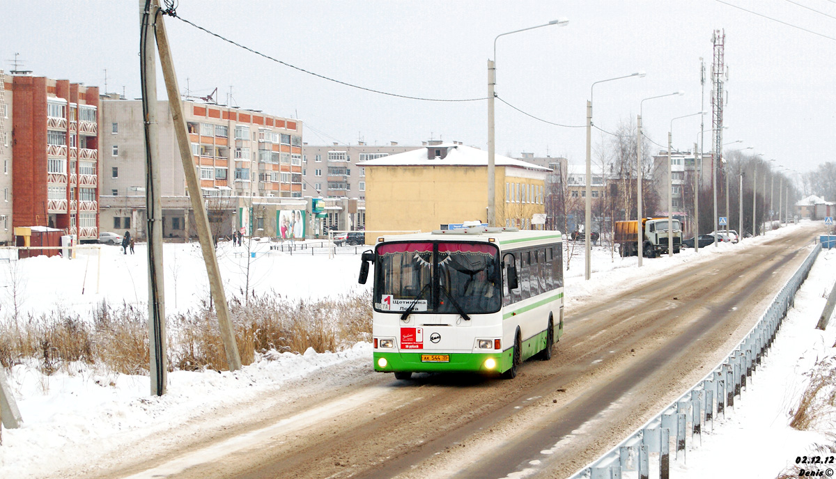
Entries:
MULTIPOLYGON (((151 0, 154 4, 154 11, 159 7, 158 0, 151 0)), ((160 64, 162 73, 166 79, 166 92, 171 108, 171 119, 174 121, 174 133, 177 138, 177 145, 180 147, 183 171, 186 175, 191 207, 195 211, 195 223, 197 237, 201 243, 203 262, 206 264, 206 274, 209 277, 209 288, 212 291, 212 300, 215 302, 217 313, 218 329, 221 333, 224 350, 227 354, 227 366, 229 370, 241 369, 241 357, 238 354, 238 346, 235 340, 235 331, 229 320, 229 304, 223 291, 221 270, 217 265, 215 244, 212 242, 212 232, 209 229, 209 218, 206 217, 206 208, 203 205, 200 183, 197 181, 194 161, 191 158, 191 141, 186 130, 186 118, 183 116, 183 104, 180 100, 180 88, 177 86, 177 77, 174 71, 174 59, 171 57, 166 23, 162 16, 156 18, 156 40, 160 49, 160 64)))

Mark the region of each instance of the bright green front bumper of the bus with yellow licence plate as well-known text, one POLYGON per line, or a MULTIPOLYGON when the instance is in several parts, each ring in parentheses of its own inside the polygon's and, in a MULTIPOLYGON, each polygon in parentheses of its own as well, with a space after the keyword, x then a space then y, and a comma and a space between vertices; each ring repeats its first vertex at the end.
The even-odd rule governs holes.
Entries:
POLYGON ((511 367, 512 353, 513 349, 494 353, 380 353, 375 351, 373 357, 375 371, 382 373, 473 372, 491 375, 502 373, 511 367), (431 356, 431 358, 426 356, 431 356), (445 356, 448 360, 443 361, 445 356))

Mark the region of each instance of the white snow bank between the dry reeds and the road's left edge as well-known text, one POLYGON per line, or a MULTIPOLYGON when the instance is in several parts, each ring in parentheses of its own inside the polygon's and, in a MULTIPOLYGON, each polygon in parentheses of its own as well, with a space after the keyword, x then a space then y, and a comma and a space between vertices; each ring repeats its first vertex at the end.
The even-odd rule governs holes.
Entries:
MULTIPOLYGON (((148 376, 101 373, 80 363, 69 373, 50 376, 30 365, 14 366, 9 382, 23 427, 3 430, 0 476, 53 476, 62 469, 89 465, 91 457, 120 451, 143 437, 163 431, 171 435, 177 426, 185 434, 200 426, 189 425, 191 420, 212 411, 246 405, 265 395, 293 398, 297 383, 319 372, 332 371, 326 373, 330 376, 349 369, 367 374, 371 350, 371 344, 358 343, 338 353, 273 351, 237 372, 174 371, 168 374, 166 395, 159 397, 149 395, 148 376)), ((319 387, 334 387, 336 379, 319 387)), ((234 413, 212 427, 224 422, 234 424, 234 413)))

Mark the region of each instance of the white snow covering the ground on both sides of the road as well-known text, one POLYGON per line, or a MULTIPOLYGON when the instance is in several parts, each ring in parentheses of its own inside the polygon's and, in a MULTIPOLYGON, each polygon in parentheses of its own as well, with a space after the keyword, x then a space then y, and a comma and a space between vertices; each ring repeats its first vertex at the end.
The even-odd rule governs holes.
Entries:
MULTIPOLYGON (((786 234, 794 227, 769 232, 741 244, 701 248, 696 254, 685 249, 674 257, 645 259, 639 271, 636 258, 620 258, 604 247, 594 249, 592 281, 584 281, 583 243, 571 257, 566 272, 567 307, 583 304, 592 297, 630 288, 640 278, 675 268, 683 262, 709 261, 718 255, 735 254, 770 237, 786 234)), ((368 288, 356 283, 359 257, 354 254, 289 255, 269 252, 257 246, 255 259, 242 247, 219 246, 227 294, 240 294, 250 261, 251 288, 275 290, 288 298, 324 298, 368 288)), ((352 248, 350 250, 354 252, 352 248)), ((122 255, 119 247, 102 247, 99 256, 79 252, 74 260, 38 257, 20 262, 0 262, 0 320, 10 314, 9 293, 17 285, 19 307, 41 313, 57 308, 79 314, 89 313, 102 299, 110 303, 144 304, 147 273, 145 245, 136 254, 122 255), (12 268, 15 274, 10 274, 12 268), (99 269, 100 268, 100 269, 99 269), (98 292, 97 292, 97 276, 98 292), (48 296, 44 291, 50 292, 48 296)), ((206 274, 196 244, 166 244, 166 313, 196 308, 208 295, 206 274)), ((814 442, 826 443, 829 425, 813 432, 788 427, 788 411, 806 385, 804 372, 825 354, 833 354, 836 325, 827 331, 813 329, 824 304, 823 293, 836 280, 836 250, 823 252, 808 281, 799 292, 795 309, 782 329, 767 363, 757 371, 751 390, 726 417, 717 420, 716 431, 704 435, 702 446, 688 451, 687 464, 674 464, 671 477, 706 477, 738 474, 741 477, 774 477, 796 456, 808 454, 814 442), (762 441, 764 438, 767 441, 762 441), (732 451, 730 454, 729 451, 732 451), (746 457, 747 461, 740 461, 746 457), (752 461, 757 458, 757 461, 752 461), (757 467, 757 473, 754 473, 757 467)), ((176 371, 168 375, 168 394, 149 395, 145 376, 117 375, 74 364, 51 376, 41 375, 26 365, 15 366, 9 383, 18 402, 24 425, 3 430, 0 446, 0 477, 55 476, 56 471, 83 468, 89 461, 119 451, 138 437, 166 431, 172 425, 233 403, 246 404, 268 390, 293 395, 294 388, 311 379, 322 388, 354 375, 372 374, 370 344, 360 343, 344 351, 316 354, 271 354, 235 373, 176 371), (300 381, 300 379, 308 379, 300 381), (247 387, 242 387, 247 385, 247 387)), ((234 421, 233 418, 228 420, 234 421)))

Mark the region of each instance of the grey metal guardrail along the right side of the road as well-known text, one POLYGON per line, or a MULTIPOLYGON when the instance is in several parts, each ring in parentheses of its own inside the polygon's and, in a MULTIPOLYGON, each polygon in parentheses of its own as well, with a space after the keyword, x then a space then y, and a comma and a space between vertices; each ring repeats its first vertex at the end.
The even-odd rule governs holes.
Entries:
POLYGON ((670 439, 675 439, 675 458, 684 461, 688 431, 691 431, 691 441, 695 438, 700 440, 694 442, 698 446, 702 441, 702 425, 711 424, 713 429, 714 418, 717 415, 725 418, 726 408, 734 407, 735 398, 740 398, 746 389, 747 378, 752 377, 763 356, 771 349, 783 318, 786 318, 788 309, 793 306, 795 293, 807 279, 821 250, 822 245, 819 243, 793 274, 793 278, 777 293, 766 313, 763 313, 746 338, 721 364, 627 439, 569 476, 569 479, 620 478, 622 472, 630 471, 638 472, 640 478, 646 479, 650 476, 651 455, 658 456, 658 461, 654 462, 658 462, 659 476, 669 477, 670 439))

